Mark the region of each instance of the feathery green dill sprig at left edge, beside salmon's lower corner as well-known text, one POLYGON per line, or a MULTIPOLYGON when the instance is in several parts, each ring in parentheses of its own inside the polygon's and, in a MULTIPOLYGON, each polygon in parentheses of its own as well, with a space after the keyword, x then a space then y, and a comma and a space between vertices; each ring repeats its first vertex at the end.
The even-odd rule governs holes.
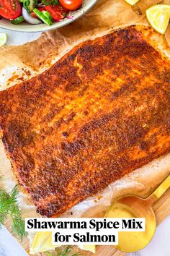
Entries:
POLYGON ((17 201, 18 193, 17 186, 12 189, 11 193, 7 193, 0 187, 0 228, 6 218, 12 218, 12 233, 22 240, 24 236, 27 236, 27 232, 24 231, 22 212, 17 201))

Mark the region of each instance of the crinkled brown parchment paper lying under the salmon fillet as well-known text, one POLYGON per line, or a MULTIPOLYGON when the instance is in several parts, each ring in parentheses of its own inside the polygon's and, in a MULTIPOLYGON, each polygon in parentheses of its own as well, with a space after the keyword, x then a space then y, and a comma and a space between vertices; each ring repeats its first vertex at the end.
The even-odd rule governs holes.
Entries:
MULTIPOLYGON (((0 90, 40 74, 81 41, 95 38, 117 27, 132 24, 148 25, 145 11, 158 2, 160 1, 141 0, 132 8, 123 0, 99 0, 84 17, 66 27, 43 33, 38 40, 24 46, 0 48, 0 90)), ((163 3, 170 4, 170 0, 163 3)), ((165 37, 170 45, 170 26, 165 37)), ((160 35, 160 40, 163 39, 164 36, 160 35)), ((0 173, 4 175, 4 188, 6 191, 11 191, 17 182, 14 180, 11 164, 6 158, 2 142, 0 142, 0 173)), ((170 174, 170 154, 110 184, 103 192, 87 198, 68 210, 63 217, 104 216, 109 205, 117 197, 129 194, 146 197, 168 174, 170 174)), ((38 216, 35 206, 27 200, 27 195, 20 192, 19 200, 23 217, 38 216)), ((10 226, 10 221, 6 222, 6 226, 10 226)), ((30 241, 33 236, 30 236, 30 241)), ((22 245, 28 249, 28 240, 24 239, 22 245)))

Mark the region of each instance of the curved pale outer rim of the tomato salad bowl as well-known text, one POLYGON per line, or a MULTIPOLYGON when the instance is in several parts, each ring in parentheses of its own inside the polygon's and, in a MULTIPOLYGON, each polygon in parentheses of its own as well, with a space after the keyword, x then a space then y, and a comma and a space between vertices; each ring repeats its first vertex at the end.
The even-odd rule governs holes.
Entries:
POLYGON ((55 22, 52 26, 45 25, 44 27, 40 27, 40 28, 36 27, 38 25, 28 25, 29 27, 31 27, 31 30, 30 30, 29 28, 28 29, 27 28, 22 28, 22 27, 17 28, 18 27, 17 25, 14 25, 14 27, 7 27, 6 25, 1 24, 1 20, 0 20, 0 28, 6 29, 6 30, 11 30, 11 31, 23 32, 23 33, 36 33, 36 32, 38 33, 38 32, 45 32, 45 31, 55 30, 55 29, 64 27, 64 26, 74 22, 75 20, 78 20, 82 16, 84 16, 84 14, 86 14, 86 12, 89 11, 89 9, 94 7, 94 4, 97 4, 97 1, 98 0, 91 1, 89 3, 88 7, 84 6, 82 11, 80 12, 80 14, 76 18, 74 18, 73 20, 71 20, 71 19, 63 20, 65 22, 61 23, 61 25, 59 25, 60 22, 55 22), (16 28, 15 28, 15 26, 16 26, 16 28))

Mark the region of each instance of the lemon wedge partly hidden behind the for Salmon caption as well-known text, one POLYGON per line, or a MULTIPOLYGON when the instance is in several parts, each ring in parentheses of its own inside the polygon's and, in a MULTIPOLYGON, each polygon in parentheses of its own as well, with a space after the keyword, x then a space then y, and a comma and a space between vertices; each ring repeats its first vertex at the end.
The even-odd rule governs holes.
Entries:
MULTIPOLYGON (((56 246, 52 244, 52 236, 50 231, 45 232, 37 232, 35 234, 35 238, 32 242, 32 245, 30 247, 30 253, 36 254, 38 252, 45 252, 49 251, 51 249, 55 249, 56 247, 60 247, 60 245, 56 246)), ((96 252, 96 246, 95 245, 86 245, 82 244, 79 245, 80 249, 84 249, 86 251, 90 251, 95 253, 96 252)))

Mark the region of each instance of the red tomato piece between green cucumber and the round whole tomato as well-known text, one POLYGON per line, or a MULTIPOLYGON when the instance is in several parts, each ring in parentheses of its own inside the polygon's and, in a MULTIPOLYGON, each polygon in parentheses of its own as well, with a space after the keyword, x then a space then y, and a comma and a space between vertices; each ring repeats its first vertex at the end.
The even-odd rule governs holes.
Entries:
POLYGON ((68 13, 68 10, 61 7, 61 5, 46 5, 45 9, 46 11, 50 12, 53 20, 55 21, 62 20, 65 17, 63 14, 68 13))

